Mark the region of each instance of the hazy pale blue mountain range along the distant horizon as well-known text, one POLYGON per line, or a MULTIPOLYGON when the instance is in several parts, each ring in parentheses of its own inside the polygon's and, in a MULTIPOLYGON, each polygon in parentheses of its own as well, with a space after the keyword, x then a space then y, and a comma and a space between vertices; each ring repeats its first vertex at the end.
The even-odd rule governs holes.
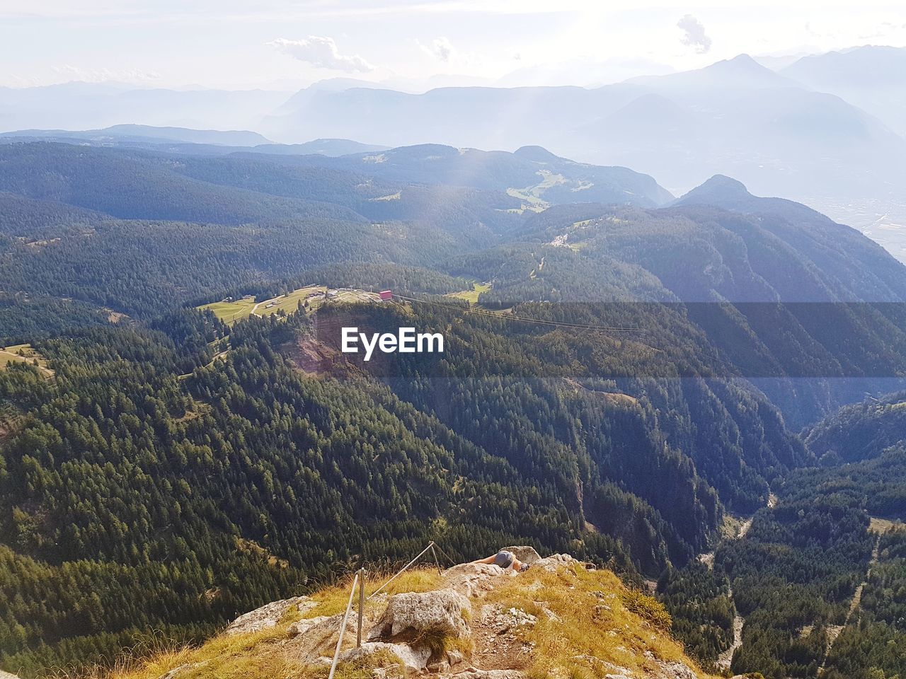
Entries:
MULTIPOLYGON (((211 153, 238 146, 341 155, 423 143, 540 145, 583 162, 631 167, 677 194, 715 174, 736 177, 757 194, 787 196, 853 225, 902 259, 904 62, 900 48, 864 46, 806 55, 776 72, 743 54, 697 71, 592 89, 448 87, 418 94, 350 79, 294 94, 71 83, 0 90, 0 129, 89 129, 17 133, 86 143, 122 144, 133 136, 131 144, 147 145, 154 139, 140 139, 143 134, 166 137, 103 129, 140 123, 250 129, 284 142, 268 145, 255 132, 236 133, 233 141, 218 137, 211 153), (310 139, 358 139, 367 146, 319 148, 310 139)), ((199 140, 183 135, 169 150, 199 140)))

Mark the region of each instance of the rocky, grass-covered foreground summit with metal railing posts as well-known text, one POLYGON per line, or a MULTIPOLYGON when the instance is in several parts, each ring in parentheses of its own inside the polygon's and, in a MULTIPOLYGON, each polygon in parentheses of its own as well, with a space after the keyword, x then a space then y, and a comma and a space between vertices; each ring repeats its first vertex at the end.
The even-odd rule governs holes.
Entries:
MULTIPOLYGON (((530 549, 530 548, 529 548, 530 549)), ((411 570, 346 622, 339 679, 699 679, 708 676, 670 636, 655 599, 610 570, 557 554, 516 574, 463 564, 411 570)), ((384 580, 372 575, 368 590, 384 580)), ((350 583, 247 613, 198 648, 165 653, 111 679, 299 677, 330 668, 350 583)), ((356 596, 356 600, 357 600, 356 596)))

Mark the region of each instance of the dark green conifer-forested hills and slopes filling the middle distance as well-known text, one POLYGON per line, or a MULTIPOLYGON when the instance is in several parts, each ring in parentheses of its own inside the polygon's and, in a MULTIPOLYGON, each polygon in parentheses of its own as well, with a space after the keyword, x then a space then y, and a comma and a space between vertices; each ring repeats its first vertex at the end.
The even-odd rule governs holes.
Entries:
MULTIPOLYGON (((708 663, 739 614, 734 670, 847 671, 827 630, 901 516, 901 397, 834 413, 906 375, 906 269, 853 229, 541 148, 5 144, 0 191, 0 342, 47 361, 0 368, 5 669, 198 639, 433 539, 660 579, 708 663), (197 309, 313 283, 397 300, 197 309), (345 359, 351 325, 446 346, 345 359)), ((839 648, 900 638, 899 568, 839 648)))

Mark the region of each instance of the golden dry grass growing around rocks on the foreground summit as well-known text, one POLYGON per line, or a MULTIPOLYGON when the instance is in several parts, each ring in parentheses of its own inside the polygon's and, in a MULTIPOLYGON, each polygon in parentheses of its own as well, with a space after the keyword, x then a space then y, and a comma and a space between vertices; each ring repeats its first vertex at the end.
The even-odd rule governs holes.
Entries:
MULTIPOLYGON (((371 573, 366 581, 366 592, 371 594, 390 575, 371 573)), ((313 595, 318 606, 306 611, 305 617, 342 613, 349 600, 351 585, 352 576, 349 576, 319 590, 313 595)), ((392 596, 402 592, 430 591, 442 585, 436 569, 420 568, 407 571, 383 591, 392 596)), ((602 679, 606 674, 612 674, 612 669, 605 663, 621 665, 641 674, 645 669, 654 669, 646 667, 651 664, 644 657, 646 650, 662 660, 692 665, 679 643, 666 631, 670 617, 660 603, 625 588, 609 570, 590 571, 577 564, 555 573, 529 569, 516 578, 501 579, 500 584, 487 593, 487 603, 521 608, 537 617, 534 627, 520 631, 525 641, 535 644, 528 672, 536 679, 602 679)), ((366 610, 368 606, 382 609, 383 603, 372 601, 366 604, 366 610)), ((198 647, 161 647, 140 661, 123 660, 113 668, 97 668, 87 676, 84 673, 80 676, 86 679, 159 679, 173 668, 185 665, 178 679, 326 679, 326 666, 295 663, 281 653, 287 628, 300 617, 293 611, 273 629, 252 635, 217 636, 198 647)), ((470 655, 473 651, 471 639, 439 635, 422 641, 438 652, 456 648, 470 655)), ((374 667, 388 665, 391 677, 405 674, 399 658, 372 656, 339 665, 335 679, 371 679, 374 667)), ((701 676, 707 675, 702 673, 701 676)))

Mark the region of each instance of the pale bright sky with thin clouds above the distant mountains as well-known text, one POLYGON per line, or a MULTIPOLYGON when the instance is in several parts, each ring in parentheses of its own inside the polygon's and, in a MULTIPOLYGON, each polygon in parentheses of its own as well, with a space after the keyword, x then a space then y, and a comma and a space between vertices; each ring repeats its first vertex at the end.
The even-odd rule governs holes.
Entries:
POLYGON ((593 86, 738 53, 906 46, 906 3, 0 0, 0 86, 593 86))

